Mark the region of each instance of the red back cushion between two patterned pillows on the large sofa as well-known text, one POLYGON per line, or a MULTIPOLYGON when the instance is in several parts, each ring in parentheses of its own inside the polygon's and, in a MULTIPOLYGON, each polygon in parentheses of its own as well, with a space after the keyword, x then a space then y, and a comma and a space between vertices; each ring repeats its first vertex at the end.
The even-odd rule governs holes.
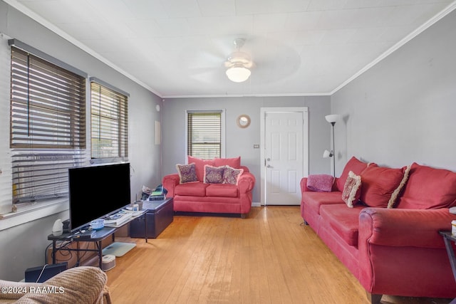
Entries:
POLYGON ((361 201, 370 207, 386 208, 393 206, 395 199, 393 192, 400 187, 403 181, 405 167, 391 169, 378 167, 376 164, 369 165, 361 172, 361 201))

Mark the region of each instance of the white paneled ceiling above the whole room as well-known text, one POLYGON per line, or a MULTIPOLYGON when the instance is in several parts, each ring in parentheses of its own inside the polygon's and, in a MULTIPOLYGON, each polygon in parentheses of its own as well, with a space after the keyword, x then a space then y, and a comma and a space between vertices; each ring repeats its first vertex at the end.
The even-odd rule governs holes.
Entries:
POLYGON ((162 98, 328 95, 453 0, 5 0, 162 98), (255 63, 232 83, 234 38, 255 63))

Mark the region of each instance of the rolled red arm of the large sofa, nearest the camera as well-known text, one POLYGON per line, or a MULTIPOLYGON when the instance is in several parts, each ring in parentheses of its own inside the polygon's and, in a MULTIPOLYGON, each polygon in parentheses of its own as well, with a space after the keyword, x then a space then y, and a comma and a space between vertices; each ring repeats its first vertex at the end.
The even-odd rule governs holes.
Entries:
POLYGON ((451 230, 456 214, 442 209, 365 208, 359 241, 380 246, 445 248, 440 230, 451 230))

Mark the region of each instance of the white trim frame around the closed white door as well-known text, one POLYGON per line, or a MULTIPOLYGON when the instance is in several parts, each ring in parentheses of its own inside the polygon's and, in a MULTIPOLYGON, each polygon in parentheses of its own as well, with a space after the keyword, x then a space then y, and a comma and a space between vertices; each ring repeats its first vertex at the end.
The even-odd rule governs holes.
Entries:
POLYGON ((260 108, 260 204, 266 206, 266 165, 264 156, 264 136, 266 135, 266 114, 268 112, 302 112, 303 123, 303 174, 309 176, 309 108, 308 107, 278 107, 278 108, 260 108))

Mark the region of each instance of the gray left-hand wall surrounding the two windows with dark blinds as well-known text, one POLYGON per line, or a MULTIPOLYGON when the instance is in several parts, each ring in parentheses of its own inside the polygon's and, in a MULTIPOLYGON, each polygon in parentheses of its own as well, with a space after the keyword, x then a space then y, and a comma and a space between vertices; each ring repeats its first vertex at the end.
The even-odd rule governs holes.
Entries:
MULTIPOLYGON (((161 146, 154 144, 154 121, 160 120, 155 105, 162 105, 160 98, 3 1, 0 1, 0 32, 130 93, 128 123, 132 199, 135 199, 136 193, 140 194, 143 184, 152 186, 160 183, 161 146)), ((9 69, 9 66, 0 68, 9 69)), ((9 87, 0 90, 9 91, 9 87)), ((0 100, 0 103, 5 102, 9 103, 9 100, 0 100)), ((109 201, 105 204, 109 204, 109 201)), ((66 219, 68 213, 63 212, 0 231, 0 278, 20 280, 24 277, 26 268, 44 263, 44 251, 49 243, 47 236, 51 234, 53 221, 58 218, 66 219)))

